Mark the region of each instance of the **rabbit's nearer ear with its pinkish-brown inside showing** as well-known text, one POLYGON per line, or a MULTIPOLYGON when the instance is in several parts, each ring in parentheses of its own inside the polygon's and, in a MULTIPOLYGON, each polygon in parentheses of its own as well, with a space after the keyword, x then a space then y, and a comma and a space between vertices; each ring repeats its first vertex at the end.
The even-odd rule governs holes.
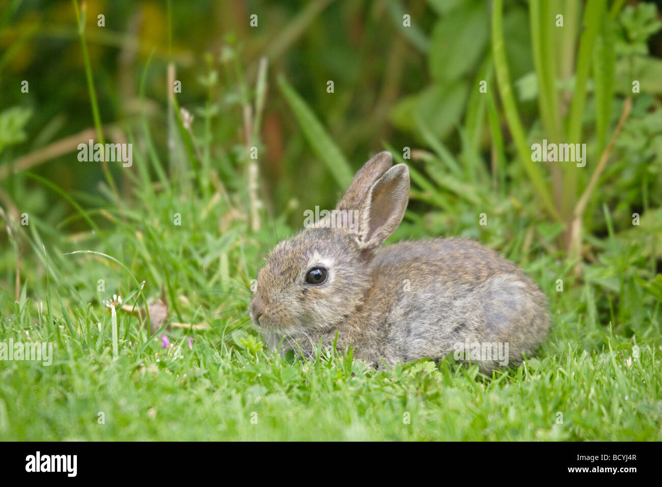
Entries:
POLYGON ((384 243, 402 221, 409 201, 409 168, 396 164, 371 186, 359 209, 355 239, 361 248, 384 243))

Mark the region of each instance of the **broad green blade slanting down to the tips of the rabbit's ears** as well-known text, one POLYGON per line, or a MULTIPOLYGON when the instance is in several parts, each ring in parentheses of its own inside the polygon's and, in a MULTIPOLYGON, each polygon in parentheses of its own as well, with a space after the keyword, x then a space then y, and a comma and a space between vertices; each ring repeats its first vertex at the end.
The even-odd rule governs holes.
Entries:
POLYGON ((324 130, 322 123, 282 75, 278 77, 278 86, 285 97, 285 101, 297 117, 299 127, 301 127, 303 135, 308 140, 308 144, 310 144, 316 156, 326 164, 340 188, 344 189, 350 186, 354 172, 338 146, 324 130))

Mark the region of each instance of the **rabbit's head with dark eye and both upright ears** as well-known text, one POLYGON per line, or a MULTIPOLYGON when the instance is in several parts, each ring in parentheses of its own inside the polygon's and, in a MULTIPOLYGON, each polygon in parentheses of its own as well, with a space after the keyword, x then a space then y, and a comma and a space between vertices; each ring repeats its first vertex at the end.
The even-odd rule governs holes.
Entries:
POLYGON ((409 197, 407 166, 392 164, 389 152, 371 158, 331 215, 271 250, 250 303, 263 332, 336 325, 361 305, 370 263, 402 221, 409 197))

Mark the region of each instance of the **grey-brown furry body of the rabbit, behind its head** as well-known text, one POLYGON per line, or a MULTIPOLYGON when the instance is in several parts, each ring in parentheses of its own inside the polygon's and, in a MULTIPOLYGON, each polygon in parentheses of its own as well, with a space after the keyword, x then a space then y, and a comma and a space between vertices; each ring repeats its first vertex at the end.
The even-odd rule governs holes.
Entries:
MULTIPOLYGON (((507 344, 511 362, 532 354, 547 335, 547 299, 518 266, 465 239, 383 248, 372 268, 373 296, 389 296, 381 354, 389 363, 442 358, 458 345, 507 344)), ((474 345, 472 345, 474 346, 474 345)), ((496 360, 482 356, 481 368, 496 360)))

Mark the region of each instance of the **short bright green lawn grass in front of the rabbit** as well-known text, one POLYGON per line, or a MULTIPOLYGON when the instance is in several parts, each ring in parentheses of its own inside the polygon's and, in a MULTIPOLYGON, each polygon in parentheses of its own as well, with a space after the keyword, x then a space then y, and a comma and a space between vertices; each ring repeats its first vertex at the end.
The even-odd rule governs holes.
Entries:
MULTIPOLYGON (((21 322, 38 320, 29 301, 19 307, 21 322)), ((557 325, 540 359, 486 378, 452 360, 379 372, 351 354, 288 363, 218 347, 220 330, 190 351, 175 339, 181 358, 158 342, 143 352, 122 342, 114 359, 107 321, 104 334, 83 317, 77 339, 32 327, 56 358, 3 364, 0 439, 662 439, 660 352, 643 345, 632 358, 633 340, 589 352, 557 325)), ((19 339, 19 323, 7 325, 19 339)))

